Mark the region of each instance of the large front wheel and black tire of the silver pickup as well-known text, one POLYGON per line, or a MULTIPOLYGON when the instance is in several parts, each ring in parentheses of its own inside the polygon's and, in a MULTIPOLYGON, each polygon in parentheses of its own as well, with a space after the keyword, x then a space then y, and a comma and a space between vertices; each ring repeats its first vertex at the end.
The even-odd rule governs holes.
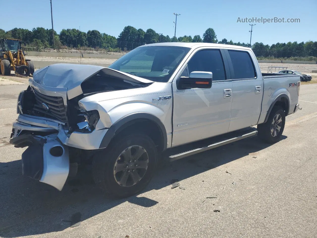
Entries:
POLYGON ((119 136, 93 158, 96 184, 116 198, 143 190, 156 170, 158 152, 149 136, 119 136))

